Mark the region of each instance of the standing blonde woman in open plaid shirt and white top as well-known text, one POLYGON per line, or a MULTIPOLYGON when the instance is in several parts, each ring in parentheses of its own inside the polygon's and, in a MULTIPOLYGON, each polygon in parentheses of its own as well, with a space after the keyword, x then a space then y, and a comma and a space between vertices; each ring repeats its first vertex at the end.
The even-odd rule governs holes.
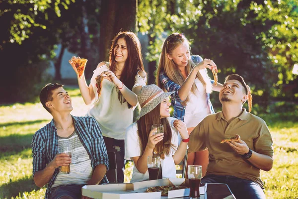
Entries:
MULTIPOLYGON (((212 91, 220 91, 222 84, 215 85, 207 74, 207 68, 217 72, 216 64, 199 55, 190 55, 190 45, 184 34, 169 35, 162 46, 157 68, 157 86, 174 92, 171 103, 173 117, 181 119, 189 133, 207 115, 214 113, 209 99, 212 91)), ((203 176, 208 165, 208 150, 189 153, 187 165, 202 165, 203 176)))

